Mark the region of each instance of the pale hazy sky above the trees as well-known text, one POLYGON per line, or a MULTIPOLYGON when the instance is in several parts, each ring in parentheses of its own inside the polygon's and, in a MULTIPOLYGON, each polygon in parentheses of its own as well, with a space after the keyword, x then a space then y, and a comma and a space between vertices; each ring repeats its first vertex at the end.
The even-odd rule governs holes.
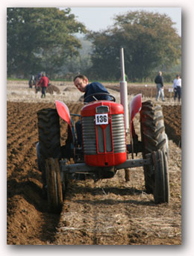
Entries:
POLYGON ((145 10, 148 12, 167 14, 181 36, 181 7, 71 7, 79 22, 84 23, 92 31, 104 30, 113 25, 113 18, 128 11, 145 10))

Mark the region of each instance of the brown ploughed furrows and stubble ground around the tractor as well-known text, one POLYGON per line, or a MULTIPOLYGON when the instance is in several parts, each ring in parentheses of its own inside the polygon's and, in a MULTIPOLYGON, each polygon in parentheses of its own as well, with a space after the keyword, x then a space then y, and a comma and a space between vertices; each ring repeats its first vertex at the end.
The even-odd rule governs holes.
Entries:
MULTIPOLYGON (((83 106, 73 99, 66 104, 70 113, 80 113, 83 106)), ((131 169, 128 182, 124 170, 96 182, 72 181, 60 214, 48 213, 37 168, 37 111, 45 107, 54 108, 54 102, 40 97, 21 101, 16 93, 7 101, 7 244, 181 244, 181 104, 162 104, 169 137, 169 204, 154 205, 139 167, 131 169)), ((139 125, 138 115, 134 125, 139 125)), ((62 120, 60 126, 63 143, 62 120)))

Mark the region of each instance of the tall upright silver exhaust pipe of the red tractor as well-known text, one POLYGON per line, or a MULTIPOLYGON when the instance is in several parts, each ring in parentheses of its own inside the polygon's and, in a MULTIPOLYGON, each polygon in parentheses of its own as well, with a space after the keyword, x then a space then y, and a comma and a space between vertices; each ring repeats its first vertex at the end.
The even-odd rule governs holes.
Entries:
POLYGON ((123 48, 120 49, 120 61, 121 61, 121 77, 120 81, 120 101, 124 107, 125 113, 125 132, 128 133, 129 122, 128 122, 128 83, 125 81, 125 63, 124 63, 124 51, 123 48))

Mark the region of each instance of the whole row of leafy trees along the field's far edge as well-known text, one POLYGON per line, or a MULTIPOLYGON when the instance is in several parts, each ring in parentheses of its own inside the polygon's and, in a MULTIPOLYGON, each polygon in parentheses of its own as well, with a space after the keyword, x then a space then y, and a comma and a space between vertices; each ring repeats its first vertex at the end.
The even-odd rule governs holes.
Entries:
POLYGON ((181 37, 173 25, 166 14, 131 11, 115 16, 112 27, 93 32, 70 8, 9 7, 7 77, 46 71, 51 79, 84 73, 90 79, 118 80, 123 47, 130 81, 146 81, 181 59, 181 37))

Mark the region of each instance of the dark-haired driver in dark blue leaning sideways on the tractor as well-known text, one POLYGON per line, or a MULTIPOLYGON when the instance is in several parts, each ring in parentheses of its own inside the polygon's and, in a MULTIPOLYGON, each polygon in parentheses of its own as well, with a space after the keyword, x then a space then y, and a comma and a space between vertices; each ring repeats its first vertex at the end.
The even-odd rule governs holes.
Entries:
MULTIPOLYGON (((84 93, 84 99, 86 99, 87 96, 93 95, 94 93, 108 93, 107 89, 99 82, 89 84, 85 75, 76 75, 73 81, 75 87, 77 87, 81 93, 84 93)), ((85 102, 94 102, 96 100, 110 101, 111 97, 108 95, 96 95, 88 97, 85 102)), ((78 145, 82 146, 81 120, 75 123, 75 128, 78 135, 78 145)))

